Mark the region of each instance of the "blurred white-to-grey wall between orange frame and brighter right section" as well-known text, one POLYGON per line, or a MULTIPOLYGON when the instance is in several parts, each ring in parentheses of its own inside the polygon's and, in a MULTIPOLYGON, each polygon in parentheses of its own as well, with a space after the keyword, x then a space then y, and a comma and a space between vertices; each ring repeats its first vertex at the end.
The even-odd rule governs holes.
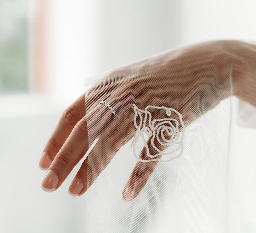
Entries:
POLYGON ((48 6, 48 83, 76 98, 84 78, 179 44, 178 1, 61 1, 48 6))

